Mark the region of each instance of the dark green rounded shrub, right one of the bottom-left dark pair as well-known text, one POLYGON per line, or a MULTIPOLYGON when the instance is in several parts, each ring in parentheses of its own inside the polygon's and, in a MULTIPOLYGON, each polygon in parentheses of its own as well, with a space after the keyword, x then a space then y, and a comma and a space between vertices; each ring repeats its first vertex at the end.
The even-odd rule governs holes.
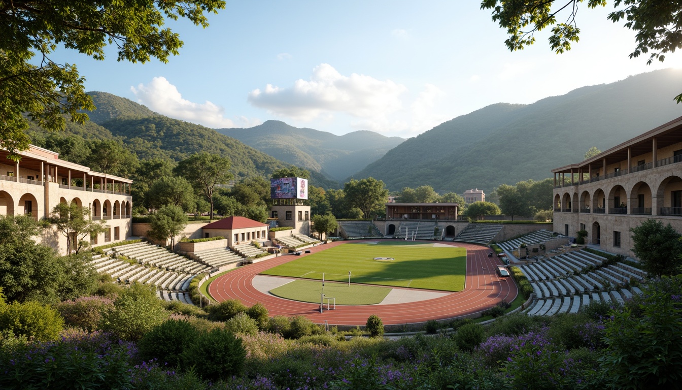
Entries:
POLYGON ((223 329, 199 335, 181 355, 186 370, 194 367, 199 376, 212 381, 240 374, 245 358, 241 339, 223 329))

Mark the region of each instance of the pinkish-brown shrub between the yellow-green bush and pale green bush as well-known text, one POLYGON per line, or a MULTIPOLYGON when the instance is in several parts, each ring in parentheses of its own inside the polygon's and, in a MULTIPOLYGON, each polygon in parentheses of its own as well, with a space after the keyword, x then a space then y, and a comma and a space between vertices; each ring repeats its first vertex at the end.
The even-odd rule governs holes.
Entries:
POLYGON ((74 301, 64 301, 57 305, 57 312, 64 318, 67 326, 92 332, 102 322, 102 313, 113 310, 111 298, 104 296, 82 296, 74 301))

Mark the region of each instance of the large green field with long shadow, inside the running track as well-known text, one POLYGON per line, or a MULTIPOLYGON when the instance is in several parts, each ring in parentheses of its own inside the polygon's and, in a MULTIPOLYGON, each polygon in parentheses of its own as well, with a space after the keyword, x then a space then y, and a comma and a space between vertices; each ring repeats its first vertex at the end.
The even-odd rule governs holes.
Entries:
POLYGON ((351 283, 460 291, 464 289, 466 249, 434 247, 409 241, 349 243, 301 257, 264 271, 263 275, 351 283), (374 257, 393 257, 383 262, 374 257))

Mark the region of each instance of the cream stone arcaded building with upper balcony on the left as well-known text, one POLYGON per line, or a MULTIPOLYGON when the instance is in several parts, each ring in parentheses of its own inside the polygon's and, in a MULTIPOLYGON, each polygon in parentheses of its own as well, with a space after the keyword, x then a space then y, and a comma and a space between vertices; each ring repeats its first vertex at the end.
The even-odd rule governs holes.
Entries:
MULTIPOLYGON (((132 180, 92 171, 59 159, 59 154, 31 145, 18 163, 0 150, 0 215, 29 214, 36 221, 49 217, 55 205, 78 204, 91 210, 93 220, 106 221, 107 230, 92 237, 93 245, 122 241, 132 229, 132 180)), ((45 232, 37 240, 66 250, 66 238, 45 232)))

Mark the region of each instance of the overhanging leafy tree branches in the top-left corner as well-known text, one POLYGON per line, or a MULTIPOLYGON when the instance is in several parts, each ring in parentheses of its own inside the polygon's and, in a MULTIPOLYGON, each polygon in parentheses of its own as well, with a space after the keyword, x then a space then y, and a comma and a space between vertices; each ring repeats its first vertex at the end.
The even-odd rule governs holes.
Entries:
POLYGON ((43 128, 61 130, 66 117, 83 123, 87 115, 79 110, 95 109, 76 66, 50 59, 57 46, 103 60, 106 46, 113 43, 119 61, 145 63, 155 57, 166 62, 183 45, 176 33, 162 28, 166 20, 188 18, 207 27, 205 12, 224 7, 224 0, 3 1, 0 148, 8 150, 14 161, 20 158, 18 152, 28 149, 25 113, 43 128))

